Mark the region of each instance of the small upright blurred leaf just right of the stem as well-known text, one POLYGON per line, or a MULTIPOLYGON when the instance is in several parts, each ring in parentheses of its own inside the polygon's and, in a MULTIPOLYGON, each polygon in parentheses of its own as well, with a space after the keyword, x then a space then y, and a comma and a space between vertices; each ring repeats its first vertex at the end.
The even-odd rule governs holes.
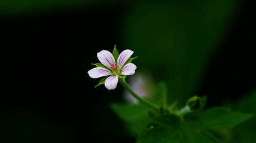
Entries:
POLYGON ((167 107, 167 87, 164 82, 156 85, 156 101, 163 107, 167 107))

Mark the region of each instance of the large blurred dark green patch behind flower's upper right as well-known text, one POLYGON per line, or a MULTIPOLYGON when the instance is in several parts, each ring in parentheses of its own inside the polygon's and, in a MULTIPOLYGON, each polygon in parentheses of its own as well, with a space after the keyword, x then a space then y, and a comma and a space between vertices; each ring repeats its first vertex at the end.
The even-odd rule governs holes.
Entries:
POLYGON ((139 69, 167 82, 170 100, 185 100, 197 94, 236 6, 232 0, 142 1, 123 21, 124 45, 139 55, 139 69))

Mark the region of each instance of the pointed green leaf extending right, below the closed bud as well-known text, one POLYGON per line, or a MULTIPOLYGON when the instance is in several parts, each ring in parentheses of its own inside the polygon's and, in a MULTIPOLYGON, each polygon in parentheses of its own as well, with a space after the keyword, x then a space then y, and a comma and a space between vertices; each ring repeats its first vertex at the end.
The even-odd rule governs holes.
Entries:
POLYGON ((232 128, 252 115, 232 112, 228 108, 214 107, 205 110, 197 110, 185 115, 186 122, 201 129, 227 129, 232 128))

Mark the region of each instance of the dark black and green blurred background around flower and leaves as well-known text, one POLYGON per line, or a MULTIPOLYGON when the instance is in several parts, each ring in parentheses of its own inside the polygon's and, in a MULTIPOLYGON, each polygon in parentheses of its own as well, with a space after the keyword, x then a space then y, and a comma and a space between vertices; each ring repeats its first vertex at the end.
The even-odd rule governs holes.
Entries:
MULTIPOLYGON (((2 0, 0 142, 135 142, 110 108, 118 85, 94 88, 102 49, 131 49, 136 72, 164 81, 169 101, 256 113, 250 1, 2 0)), ((253 142, 256 119, 226 142, 253 142)))

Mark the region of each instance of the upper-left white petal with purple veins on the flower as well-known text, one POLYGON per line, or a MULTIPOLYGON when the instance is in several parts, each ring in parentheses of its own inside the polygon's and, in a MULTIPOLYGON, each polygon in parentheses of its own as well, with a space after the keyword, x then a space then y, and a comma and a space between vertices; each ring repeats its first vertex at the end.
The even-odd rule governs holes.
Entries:
POLYGON ((97 57, 104 66, 110 68, 110 64, 116 64, 114 56, 110 51, 107 50, 101 50, 100 52, 97 53, 97 57))

